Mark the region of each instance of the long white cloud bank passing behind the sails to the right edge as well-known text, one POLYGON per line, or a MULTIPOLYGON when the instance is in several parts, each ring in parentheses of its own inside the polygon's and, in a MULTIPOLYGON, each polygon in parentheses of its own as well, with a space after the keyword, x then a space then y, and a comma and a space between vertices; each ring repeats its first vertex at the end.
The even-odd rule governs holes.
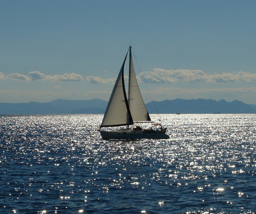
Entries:
MULTIPOLYGON (((115 79, 101 79, 100 77, 86 77, 92 84, 110 84, 114 83, 115 79)), ((137 76, 138 81, 145 83, 162 83, 170 84, 179 81, 186 81, 188 83, 230 83, 242 81, 256 81, 256 74, 239 71, 237 73, 221 73, 214 75, 207 75, 201 70, 164 70, 153 69, 153 71, 144 71, 137 76)))

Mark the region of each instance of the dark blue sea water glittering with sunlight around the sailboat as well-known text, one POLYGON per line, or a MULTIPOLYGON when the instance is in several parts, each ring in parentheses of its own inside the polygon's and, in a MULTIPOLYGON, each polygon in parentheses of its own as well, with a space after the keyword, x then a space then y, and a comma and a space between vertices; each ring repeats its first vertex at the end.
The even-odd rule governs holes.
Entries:
POLYGON ((0 116, 1 213, 255 213, 256 115, 161 114, 170 139, 103 141, 101 114, 0 116))

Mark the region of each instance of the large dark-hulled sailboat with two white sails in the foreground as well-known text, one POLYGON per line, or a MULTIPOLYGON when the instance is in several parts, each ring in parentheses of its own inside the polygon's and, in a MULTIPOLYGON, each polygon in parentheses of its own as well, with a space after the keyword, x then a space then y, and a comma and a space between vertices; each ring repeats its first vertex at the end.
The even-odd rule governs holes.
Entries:
POLYGON ((166 128, 161 124, 154 124, 156 128, 142 129, 140 126, 130 128, 139 122, 152 122, 143 101, 134 72, 131 46, 126 53, 121 70, 111 93, 106 112, 104 114, 100 134, 103 139, 167 139, 166 128), (129 61, 129 92, 126 96, 124 85, 124 65, 128 53, 129 61), (102 130, 102 127, 120 127, 117 130, 102 130), (125 127, 125 128, 124 128, 125 127))

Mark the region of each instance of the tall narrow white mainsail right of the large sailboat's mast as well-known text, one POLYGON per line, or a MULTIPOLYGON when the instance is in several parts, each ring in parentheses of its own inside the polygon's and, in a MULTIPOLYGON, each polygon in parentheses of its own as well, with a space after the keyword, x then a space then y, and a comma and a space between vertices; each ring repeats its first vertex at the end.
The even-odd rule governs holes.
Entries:
POLYGON ((130 63, 129 63, 129 108, 132 114, 133 121, 151 121, 145 103, 140 93, 138 82, 136 79, 131 47, 130 47, 130 63))

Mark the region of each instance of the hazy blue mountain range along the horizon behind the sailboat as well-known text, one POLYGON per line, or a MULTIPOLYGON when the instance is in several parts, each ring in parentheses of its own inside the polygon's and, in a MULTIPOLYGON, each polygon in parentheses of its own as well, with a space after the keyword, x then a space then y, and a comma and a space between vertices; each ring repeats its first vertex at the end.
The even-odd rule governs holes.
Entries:
MULTIPOLYGON (((0 114, 102 114, 107 108, 107 102, 93 100, 54 100, 47 103, 0 103, 0 114)), ((256 113, 256 105, 241 101, 227 102, 225 100, 164 100, 152 101, 146 104, 149 113, 256 113)))

